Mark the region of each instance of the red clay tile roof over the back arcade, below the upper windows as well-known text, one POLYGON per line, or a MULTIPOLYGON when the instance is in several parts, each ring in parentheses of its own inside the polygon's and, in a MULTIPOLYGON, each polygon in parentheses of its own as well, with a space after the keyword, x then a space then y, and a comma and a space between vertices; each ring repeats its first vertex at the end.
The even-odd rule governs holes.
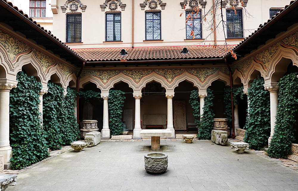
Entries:
POLYGON ((134 48, 80 48, 73 49, 87 62, 120 61, 120 60, 180 60, 222 58, 234 46, 155 46, 134 48), (181 53, 188 49, 187 54, 181 53), (121 56, 121 49, 127 54, 121 56))

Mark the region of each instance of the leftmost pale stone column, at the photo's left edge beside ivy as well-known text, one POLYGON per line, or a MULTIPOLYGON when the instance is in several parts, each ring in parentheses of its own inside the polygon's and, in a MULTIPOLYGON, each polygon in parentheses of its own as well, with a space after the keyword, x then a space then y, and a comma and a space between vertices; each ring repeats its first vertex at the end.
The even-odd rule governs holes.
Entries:
POLYGON ((9 94, 17 87, 18 81, 0 79, 0 155, 4 155, 4 163, 12 157, 9 143, 9 94))

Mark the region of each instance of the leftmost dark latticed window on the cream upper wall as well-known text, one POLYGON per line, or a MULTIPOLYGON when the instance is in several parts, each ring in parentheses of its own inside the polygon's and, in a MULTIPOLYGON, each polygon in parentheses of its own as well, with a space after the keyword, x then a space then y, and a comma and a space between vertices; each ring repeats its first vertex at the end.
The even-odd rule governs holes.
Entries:
POLYGON ((66 15, 66 42, 81 42, 82 39, 82 15, 66 15))

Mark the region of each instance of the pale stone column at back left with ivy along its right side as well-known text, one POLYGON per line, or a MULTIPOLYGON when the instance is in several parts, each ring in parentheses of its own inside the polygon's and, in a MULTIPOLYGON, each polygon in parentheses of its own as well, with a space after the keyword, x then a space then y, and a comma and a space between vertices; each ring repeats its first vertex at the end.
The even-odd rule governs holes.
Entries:
POLYGON ((101 130, 101 139, 110 139, 111 131, 109 129, 109 106, 108 106, 108 93, 102 93, 101 98, 103 98, 103 129, 101 130))

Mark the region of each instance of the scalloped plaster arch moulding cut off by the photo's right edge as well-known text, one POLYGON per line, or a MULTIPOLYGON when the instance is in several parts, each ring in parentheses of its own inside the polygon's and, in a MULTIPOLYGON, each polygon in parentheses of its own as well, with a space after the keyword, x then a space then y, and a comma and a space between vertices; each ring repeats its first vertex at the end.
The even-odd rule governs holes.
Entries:
MULTIPOLYGON (((296 51, 293 50, 292 48, 285 48, 283 46, 279 46, 276 53, 272 56, 269 62, 268 69, 266 71, 266 76, 264 78, 266 82, 277 81, 276 79, 273 79, 273 75, 277 72, 280 72, 281 68, 277 68, 277 65, 279 65, 280 62, 282 62, 285 59, 291 60, 293 62, 293 65, 298 67, 298 56, 296 54, 296 51)), ((284 69, 285 70, 283 72, 285 73, 287 71, 287 68, 284 68, 284 69)))

